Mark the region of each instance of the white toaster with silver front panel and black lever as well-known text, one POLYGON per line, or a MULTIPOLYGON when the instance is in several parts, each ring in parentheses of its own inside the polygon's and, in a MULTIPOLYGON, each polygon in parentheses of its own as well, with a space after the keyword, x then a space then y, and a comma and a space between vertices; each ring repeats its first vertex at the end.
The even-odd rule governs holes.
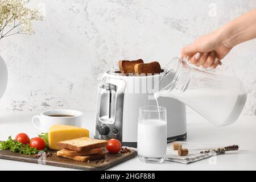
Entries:
MULTIPOLYGON (((139 107, 156 105, 153 96, 162 73, 151 76, 104 73, 98 90, 94 138, 115 138, 123 146, 137 146, 139 107)), ((167 109, 167 141, 187 137, 185 105, 173 98, 158 98, 167 109)))

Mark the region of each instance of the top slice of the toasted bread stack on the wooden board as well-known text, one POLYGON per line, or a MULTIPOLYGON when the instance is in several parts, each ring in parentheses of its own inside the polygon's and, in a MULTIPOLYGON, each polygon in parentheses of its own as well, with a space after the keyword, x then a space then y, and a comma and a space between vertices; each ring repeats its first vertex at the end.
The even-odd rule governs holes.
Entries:
POLYGON ((86 151, 93 148, 105 147, 108 144, 107 140, 97 140, 88 137, 76 138, 73 140, 65 140, 58 142, 57 145, 61 148, 66 148, 75 151, 86 151))

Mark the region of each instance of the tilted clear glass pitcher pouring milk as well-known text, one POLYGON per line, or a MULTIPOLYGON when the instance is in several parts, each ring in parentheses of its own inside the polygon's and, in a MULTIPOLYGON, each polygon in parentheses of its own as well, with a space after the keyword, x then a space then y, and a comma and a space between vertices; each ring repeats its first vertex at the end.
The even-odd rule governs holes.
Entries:
POLYGON ((213 125, 225 126, 237 120, 247 93, 239 78, 200 71, 176 57, 165 69, 154 96, 175 98, 213 125))

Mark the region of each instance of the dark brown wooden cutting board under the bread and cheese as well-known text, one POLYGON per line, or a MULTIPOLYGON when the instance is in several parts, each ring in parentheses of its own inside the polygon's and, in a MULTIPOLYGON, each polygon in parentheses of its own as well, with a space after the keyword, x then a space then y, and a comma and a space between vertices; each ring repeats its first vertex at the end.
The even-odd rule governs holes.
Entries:
MULTIPOLYGON (((72 168, 72 169, 81 169, 86 171, 105 170, 137 156, 137 152, 133 150, 131 150, 130 153, 118 154, 118 156, 115 154, 108 153, 106 154, 103 162, 102 162, 102 159, 98 159, 98 160, 92 160, 88 163, 88 162, 78 162, 72 159, 62 158, 55 154, 56 151, 47 151, 47 152, 52 153, 52 156, 46 158, 44 165, 65 167, 65 168, 72 168), (98 162, 96 163, 96 161, 98 162)), ((42 161, 40 163, 39 159, 36 158, 35 155, 23 155, 19 153, 14 153, 9 150, 0 150, 0 159, 42 164, 42 161)))

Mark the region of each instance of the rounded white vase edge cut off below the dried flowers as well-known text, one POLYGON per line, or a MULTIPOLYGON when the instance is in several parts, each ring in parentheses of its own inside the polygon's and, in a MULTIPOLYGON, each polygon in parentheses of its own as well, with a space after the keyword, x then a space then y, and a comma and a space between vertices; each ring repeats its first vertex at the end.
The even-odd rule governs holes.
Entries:
POLYGON ((5 93, 7 80, 8 80, 7 66, 3 58, 0 56, 0 98, 3 96, 3 93, 5 93))

